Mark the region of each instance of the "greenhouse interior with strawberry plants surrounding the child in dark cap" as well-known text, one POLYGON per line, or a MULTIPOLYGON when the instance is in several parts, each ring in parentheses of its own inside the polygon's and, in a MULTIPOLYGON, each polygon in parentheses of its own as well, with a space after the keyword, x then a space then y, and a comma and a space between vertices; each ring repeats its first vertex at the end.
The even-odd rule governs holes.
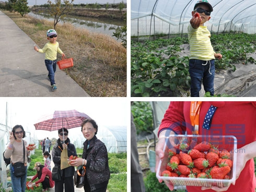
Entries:
POLYGON ((203 25, 211 33, 214 52, 222 55, 215 58, 214 95, 202 83, 200 97, 254 97, 256 2, 252 0, 132 0, 131 97, 191 96, 188 27, 197 2, 213 7, 203 25))

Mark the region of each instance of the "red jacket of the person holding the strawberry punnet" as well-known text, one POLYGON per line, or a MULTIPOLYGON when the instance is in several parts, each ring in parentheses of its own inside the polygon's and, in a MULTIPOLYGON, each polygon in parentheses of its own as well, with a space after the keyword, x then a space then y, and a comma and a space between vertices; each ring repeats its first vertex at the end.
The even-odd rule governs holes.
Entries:
MULTIPOLYGON (((158 134, 163 129, 172 129, 177 134, 184 134, 187 131, 188 135, 192 131, 190 121, 190 103, 191 102, 171 102, 167 109, 164 118, 159 126, 158 134), (176 123, 175 126, 174 123, 176 123)), ((234 135, 237 138, 237 148, 242 148, 245 145, 256 140, 256 102, 203 102, 199 117, 199 135, 234 135), (212 119, 212 126, 209 130, 202 128, 205 115, 211 105, 217 107, 217 110, 212 119)), ((230 185, 227 191, 230 192, 255 192, 256 179, 254 173, 254 161, 249 160, 245 168, 241 172, 236 184, 230 185)), ((202 191, 201 187, 187 186, 189 192, 202 191)), ((214 191, 214 190, 204 190, 214 191)))

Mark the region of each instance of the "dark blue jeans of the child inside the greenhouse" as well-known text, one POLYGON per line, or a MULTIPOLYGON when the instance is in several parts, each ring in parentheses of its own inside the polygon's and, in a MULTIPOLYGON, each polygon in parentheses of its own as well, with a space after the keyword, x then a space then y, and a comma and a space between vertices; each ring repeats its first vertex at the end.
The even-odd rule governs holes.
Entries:
POLYGON ((202 61, 198 59, 189 60, 189 73, 191 77, 191 97, 199 97, 202 79, 205 92, 210 92, 212 96, 214 95, 214 61, 214 59, 212 59, 211 61, 202 61))

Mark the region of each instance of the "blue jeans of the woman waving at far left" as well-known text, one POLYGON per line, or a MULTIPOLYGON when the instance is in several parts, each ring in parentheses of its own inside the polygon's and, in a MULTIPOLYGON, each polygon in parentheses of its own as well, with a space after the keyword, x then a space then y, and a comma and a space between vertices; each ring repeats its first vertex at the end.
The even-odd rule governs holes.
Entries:
POLYGON ((21 177, 16 177, 12 170, 13 170, 13 165, 10 164, 10 179, 11 179, 11 187, 13 188, 13 192, 25 192, 26 182, 27 182, 27 170, 26 170, 26 174, 21 177))

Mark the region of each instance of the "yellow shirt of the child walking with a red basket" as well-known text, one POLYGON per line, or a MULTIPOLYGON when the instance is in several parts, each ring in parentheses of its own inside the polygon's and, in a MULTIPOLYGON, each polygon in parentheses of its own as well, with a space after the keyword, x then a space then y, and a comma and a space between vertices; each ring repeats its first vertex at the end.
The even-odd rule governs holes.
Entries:
POLYGON ((57 53, 63 53, 59 47, 58 42, 55 44, 48 42, 44 45, 43 49, 39 49, 38 52, 45 53, 45 59, 49 59, 51 61, 57 59, 57 53))

